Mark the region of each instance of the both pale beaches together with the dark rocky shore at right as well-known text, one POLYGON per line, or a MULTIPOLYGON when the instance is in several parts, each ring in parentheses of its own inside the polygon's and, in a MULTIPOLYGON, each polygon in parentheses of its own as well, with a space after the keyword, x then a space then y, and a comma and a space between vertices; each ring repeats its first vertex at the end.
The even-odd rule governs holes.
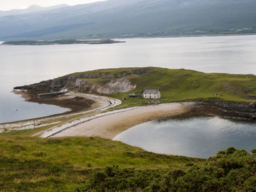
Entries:
MULTIPOLYGON (((224 101, 187 101, 168 104, 148 105, 144 107, 130 107, 121 110, 104 112, 121 104, 118 99, 106 96, 97 96, 86 93, 69 92, 62 95, 65 99, 76 97, 94 101, 90 108, 79 112, 52 115, 50 117, 22 120, 12 123, 0 123, 0 132, 50 126, 50 128, 37 132, 33 136, 48 137, 102 137, 113 139, 122 131, 145 123, 150 120, 158 120, 173 117, 213 115, 220 118, 237 120, 255 120, 256 104, 241 104, 224 101), (75 115, 78 115, 75 117, 75 115), (59 118, 69 118, 59 120, 59 118), (50 120, 50 123, 47 122, 50 120)), ((61 99, 61 96, 55 99, 61 99)))

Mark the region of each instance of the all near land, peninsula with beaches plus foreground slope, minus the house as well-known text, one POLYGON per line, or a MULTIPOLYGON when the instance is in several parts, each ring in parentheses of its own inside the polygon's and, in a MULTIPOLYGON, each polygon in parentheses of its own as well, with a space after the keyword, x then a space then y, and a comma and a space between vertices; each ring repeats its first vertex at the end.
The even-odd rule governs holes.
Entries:
POLYGON ((256 150, 249 154, 229 147, 200 159, 149 153, 110 140, 137 123, 174 116, 255 120, 255 75, 156 67, 100 69, 15 90, 21 90, 28 101, 62 104, 72 111, 0 124, 2 191, 10 187, 17 191, 256 189, 256 150), (161 104, 140 97, 144 89, 159 89, 161 104), (234 180, 233 175, 242 179, 234 180))

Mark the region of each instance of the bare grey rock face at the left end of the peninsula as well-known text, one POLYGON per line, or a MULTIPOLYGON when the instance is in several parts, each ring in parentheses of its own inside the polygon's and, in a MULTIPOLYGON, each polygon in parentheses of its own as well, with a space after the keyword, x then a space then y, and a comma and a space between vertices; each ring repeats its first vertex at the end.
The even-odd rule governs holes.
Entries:
POLYGON ((54 80, 39 82, 33 85, 26 85, 16 87, 15 89, 25 90, 43 90, 39 93, 50 93, 61 91, 64 88, 72 90, 78 88, 78 91, 83 93, 99 93, 99 94, 113 94, 118 92, 128 92, 136 88, 136 85, 126 78, 129 75, 146 74, 153 70, 151 67, 124 70, 124 72, 116 72, 108 74, 108 72, 95 72, 95 73, 81 73, 69 74, 64 77, 59 77, 54 80), (97 79, 99 82, 95 82, 97 79))

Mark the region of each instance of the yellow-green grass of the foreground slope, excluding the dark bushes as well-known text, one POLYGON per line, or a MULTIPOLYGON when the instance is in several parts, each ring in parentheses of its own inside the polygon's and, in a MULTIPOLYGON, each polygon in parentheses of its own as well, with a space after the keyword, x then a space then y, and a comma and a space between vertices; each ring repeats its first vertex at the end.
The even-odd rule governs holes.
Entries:
MULTIPOLYGON (((97 172, 104 172, 106 166, 118 165, 127 172, 153 176, 184 169, 192 161, 202 164, 204 160, 148 153, 121 142, 92 137, 0 136, 0 191, 75 191, 88 184, 97 172)), ((140 182, 150 182, 149 179, 140 182)))

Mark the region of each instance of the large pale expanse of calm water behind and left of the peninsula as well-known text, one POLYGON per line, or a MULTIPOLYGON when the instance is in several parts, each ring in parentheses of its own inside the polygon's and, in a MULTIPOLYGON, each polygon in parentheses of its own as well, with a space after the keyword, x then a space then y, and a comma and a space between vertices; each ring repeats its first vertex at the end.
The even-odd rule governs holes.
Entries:
POLYGON ((0 46, 0 123, 67 109, 25 102, 12 88, 72 72, 160 66, 256 74, 256 36, 124 39, 113 45, 0 46), (17 111, 18 110, 18 111, 17 111))

